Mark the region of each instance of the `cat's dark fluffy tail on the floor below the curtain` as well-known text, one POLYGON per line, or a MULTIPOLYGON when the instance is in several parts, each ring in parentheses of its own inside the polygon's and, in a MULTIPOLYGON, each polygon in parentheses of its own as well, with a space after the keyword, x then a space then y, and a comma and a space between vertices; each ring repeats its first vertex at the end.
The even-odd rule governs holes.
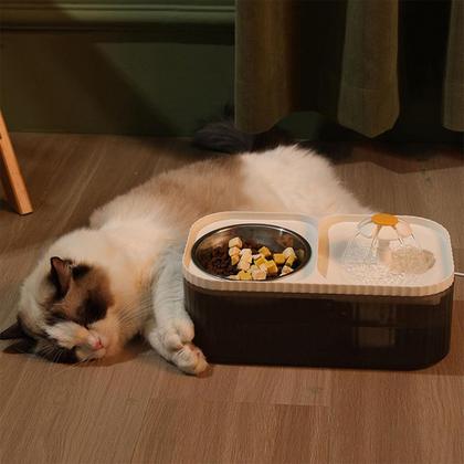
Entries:
POLYGON ((207 150, 240 154, 245 151, 262 151, 277 145, 291 145, 292 137, 277 127, 261 133, 246 134, 239 130, 233 123, 233 115, 212 122, 197 130, 193 145, 207 150))

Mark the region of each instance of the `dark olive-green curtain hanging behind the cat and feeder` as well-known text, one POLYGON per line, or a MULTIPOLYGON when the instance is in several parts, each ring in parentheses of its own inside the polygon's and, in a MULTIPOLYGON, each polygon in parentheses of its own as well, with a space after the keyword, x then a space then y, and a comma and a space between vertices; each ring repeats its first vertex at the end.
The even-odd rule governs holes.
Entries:
POLYGON ((420 68, 402 77, 413 59, 404 59, 405 32, 416 28, 415 46, 430 46, 431 61, 443 56, 425 63, 442 75, 441 123, 464 130, 464 0, 440 1, 446 35, 439 55, 436 31, 420 30, 414 11, 403 14, 411 7, 420 11, 415 0, 236 0, 238 126, 261 133, 292 112, 316 110, 368 137, 392 128, 402 82, 421 80, 420 68))

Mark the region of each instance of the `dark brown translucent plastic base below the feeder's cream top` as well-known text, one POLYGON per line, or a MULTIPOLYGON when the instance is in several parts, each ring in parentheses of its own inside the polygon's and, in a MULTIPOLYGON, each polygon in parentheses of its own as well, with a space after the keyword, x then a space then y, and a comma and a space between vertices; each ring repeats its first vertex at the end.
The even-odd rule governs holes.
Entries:
POLYGON ((211 362, 419 369, 450 350, 453 286, 391 297, 211 292, 184 281, 184 295, 211 362))

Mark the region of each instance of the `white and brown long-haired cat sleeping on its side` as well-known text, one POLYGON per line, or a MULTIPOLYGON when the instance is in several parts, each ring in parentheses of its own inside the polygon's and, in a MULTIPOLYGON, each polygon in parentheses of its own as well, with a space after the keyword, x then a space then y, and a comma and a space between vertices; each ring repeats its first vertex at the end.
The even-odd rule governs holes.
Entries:
MULTIPOLYGON (((235 151, 244 149, 232 127, 219 130, 235 151)), ((77 362, 112 357, 140 333, 182 371, 200 373, 208 363, 183 307, 182 249, 197 219, 225 210, 368 212, 326 159, 296 145, 164 172, 45 251, 21 287, 18 321, 0 338, 23 338, 31 352, 77 362)))

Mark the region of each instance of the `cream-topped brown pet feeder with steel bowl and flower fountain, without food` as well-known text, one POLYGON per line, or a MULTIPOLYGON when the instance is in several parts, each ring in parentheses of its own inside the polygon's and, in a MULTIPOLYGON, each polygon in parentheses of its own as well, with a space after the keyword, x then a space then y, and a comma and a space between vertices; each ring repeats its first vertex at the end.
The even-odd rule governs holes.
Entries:
POLYGON ((186 308, 211 362, 416 369, 450 347, 454 267, 436 222, 390 214, 223 212, 197 221, 183 255, 186 308), (230 281, 199 260, 240 235, 293 243, 299 265, 230 281))

